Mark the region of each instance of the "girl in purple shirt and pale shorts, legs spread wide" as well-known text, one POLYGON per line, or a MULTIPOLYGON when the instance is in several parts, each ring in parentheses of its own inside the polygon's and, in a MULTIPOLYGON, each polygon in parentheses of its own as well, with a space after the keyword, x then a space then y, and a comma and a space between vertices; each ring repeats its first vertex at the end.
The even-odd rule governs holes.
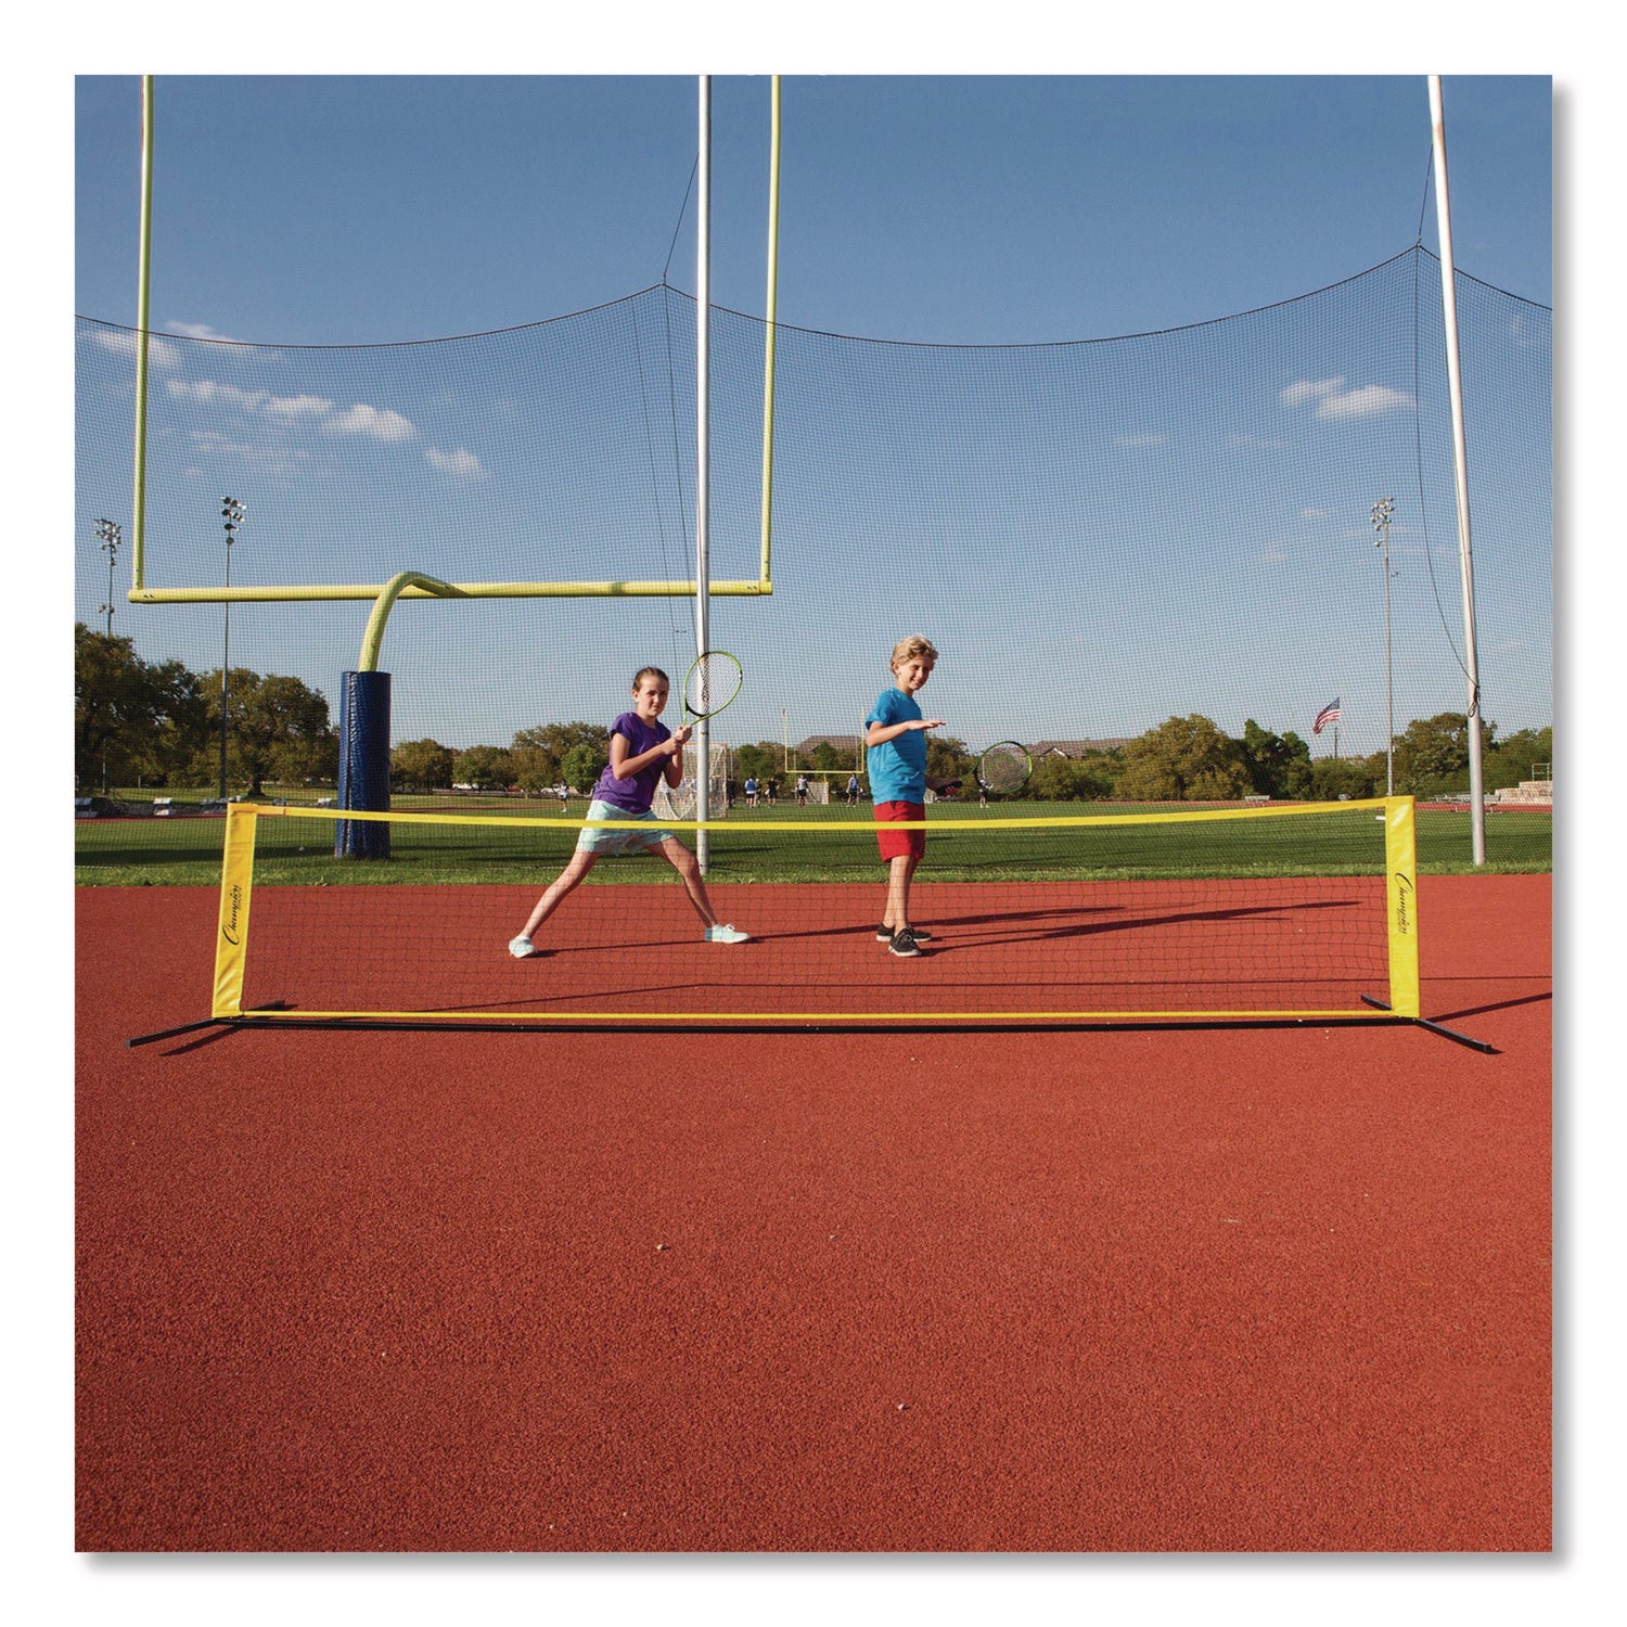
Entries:
POLYGON ((569 864, 537 900, 537 908, 532 909, 519 937, 509 942, 509 953, 516 960, 542 953, 532 942, 532 934, 558 909, 568 893, 581 887, 599 859, 607 853, 643 853, 651 848, 678 872, 695 913, 706 926, 708 944, 750 940, 750 934, 718 921, 695 854, 670 830, 662 830, 656 823, 651 807, 656 786, 662 778, 669 786, 677 786, 683 779, 683 747, 691 732, 685 724, 674 734, 661 722, 670 690, 672 680, 661 667, 641 667, 633 678, 633 709, 622 713, 610 726, 610 761, 594 786, 594 797, 587 805, 589 823, 576 840, 576 853, 571 854, 569 864), (594 823, 597 820, 638 820, 651 828, 605 830, 594 823))

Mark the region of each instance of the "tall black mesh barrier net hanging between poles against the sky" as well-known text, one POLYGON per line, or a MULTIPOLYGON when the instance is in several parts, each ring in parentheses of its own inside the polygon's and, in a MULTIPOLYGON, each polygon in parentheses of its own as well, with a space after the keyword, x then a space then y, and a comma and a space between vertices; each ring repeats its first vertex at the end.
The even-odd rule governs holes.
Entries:
MULTIPOLYGON (((1458 278, 1484 714, 1551 721, 1552 312, 1458 278)), ((942 651, 932 709, 973 752, 1131 737, 1201 713, 1383 750, 1372 504, 1394 498, 1398 731, 1464 706, 1438 262, 1170 332, 1015 347, 776 335, 773 595, 718 599, 742 744, 857 734, 887 656, 942 651)), ((94 524, 125 527, 114 633, 220 665, 218 604, 125 604, 135 340, 81 319, 78 618, 101 626, 94 524)), ((153 335, 145 581, 631 582, 695 573, 695 308, 656 286, 527 327, 283 347, 153 335)), ((711 330, 711 576, 761 553, 765 325, 711 330)), ((239 604, 233 664, 337 700, 366 602, 239 604)), ((607 724, 644 662, 687 670, 691 602, 402 600, 381 665, 395 740, 508 747, 607 724)), ((843 758, 846 766, 846 758, 843 758)))

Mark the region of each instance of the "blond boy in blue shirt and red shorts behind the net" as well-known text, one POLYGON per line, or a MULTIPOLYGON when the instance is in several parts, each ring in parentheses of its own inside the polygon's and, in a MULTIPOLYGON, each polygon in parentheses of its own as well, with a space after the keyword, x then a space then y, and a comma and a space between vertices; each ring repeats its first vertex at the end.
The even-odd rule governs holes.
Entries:
MULTIPOLYGON (((926 818, 926 731, 942 729, 942 718, 923 718, 916 695, 932 677, 937 651, 913 635, 893 646, 893 683, 882 690, 864 719, 866 766, 879 823, 919 823, 926 818)), ((877 830, 875 844, 887 861, 887 908, 875 934, 893 955, 919 955, 932 934, 909 924, 909 882, 926 853, 924 830, 877 830)))

